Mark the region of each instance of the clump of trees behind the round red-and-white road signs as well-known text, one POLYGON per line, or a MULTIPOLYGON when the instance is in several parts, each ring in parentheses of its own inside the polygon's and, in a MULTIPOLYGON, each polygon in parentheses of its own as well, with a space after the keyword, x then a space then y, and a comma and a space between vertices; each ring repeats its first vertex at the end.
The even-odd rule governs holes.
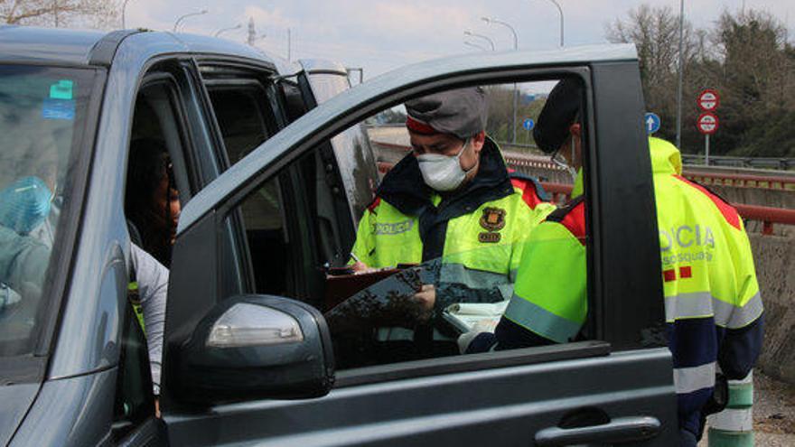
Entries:
MULTIPOLYGON (((647 108, 662 118, 659 135, 676 137, 678 16, 670 8, 641 5, 606 27, 611 42, 638 48, 647 108)), ((795 49, 771 14, 725 11, 712 30, 685 23, 682 150, 700 152, 696 104, 704 88, 716 88, 720 127, 712 154, 795 156, 795 49)))

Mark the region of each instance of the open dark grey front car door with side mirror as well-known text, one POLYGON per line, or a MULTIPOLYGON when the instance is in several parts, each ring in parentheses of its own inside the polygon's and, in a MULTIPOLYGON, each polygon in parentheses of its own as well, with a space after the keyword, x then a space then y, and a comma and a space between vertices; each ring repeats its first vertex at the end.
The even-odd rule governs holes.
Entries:
MULTIPOLYGON (((670 354, 659 338, 655 345, 648 337, 664 312, 642 111, 635 50, 609 45, 417 64, 330 98, 274 135, 182 210, 164 353, 170 442, 675 445, 670 354), (319 144, 435 91, 562 77, 585 86, 589 135, 589 312, 577 340, 352 368, 343 363, 335 371, 334 352, 356 339, 335 340, 325 309, 285 296, 225 293, 234 278, 221 277, 224 265, 248 262, 220 250, 225 219, 251 194, 274 202, 300 195, 267 185, 319 144)), ((300 242, 301 225, 284 226, 290 245, 300 242)))

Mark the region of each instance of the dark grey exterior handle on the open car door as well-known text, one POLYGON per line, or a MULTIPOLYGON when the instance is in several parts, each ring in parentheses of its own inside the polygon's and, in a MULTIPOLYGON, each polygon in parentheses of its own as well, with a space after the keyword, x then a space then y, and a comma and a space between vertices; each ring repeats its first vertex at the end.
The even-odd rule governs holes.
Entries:
POLYGON ((586 427, 548 427, 536 433, 538 447, 580 444, 585 442, 634 442, 659 434, 661 424, 656 417, 619 417, 607 424, 586 427))

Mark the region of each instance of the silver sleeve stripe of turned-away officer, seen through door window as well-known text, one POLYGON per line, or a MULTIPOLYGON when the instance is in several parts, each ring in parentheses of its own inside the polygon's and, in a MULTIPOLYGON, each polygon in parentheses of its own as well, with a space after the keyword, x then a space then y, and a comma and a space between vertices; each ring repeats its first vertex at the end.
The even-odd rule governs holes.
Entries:
POLYGON ((504 316, 528 331, 533 331, 557 343, 566 343, 573 339, 582 326, 582 323, 559 317, 517 294, 510 299, 504 316))

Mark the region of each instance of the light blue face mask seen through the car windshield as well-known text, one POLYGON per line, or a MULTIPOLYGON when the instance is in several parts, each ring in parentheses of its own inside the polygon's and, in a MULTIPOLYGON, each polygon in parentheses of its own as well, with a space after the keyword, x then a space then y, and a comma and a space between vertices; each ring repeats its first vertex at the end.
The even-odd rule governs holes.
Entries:
POLYGON ((38 177, 23 177, 0 191, 0 225, 26 235, 50 214, 52 192, 38 177))

